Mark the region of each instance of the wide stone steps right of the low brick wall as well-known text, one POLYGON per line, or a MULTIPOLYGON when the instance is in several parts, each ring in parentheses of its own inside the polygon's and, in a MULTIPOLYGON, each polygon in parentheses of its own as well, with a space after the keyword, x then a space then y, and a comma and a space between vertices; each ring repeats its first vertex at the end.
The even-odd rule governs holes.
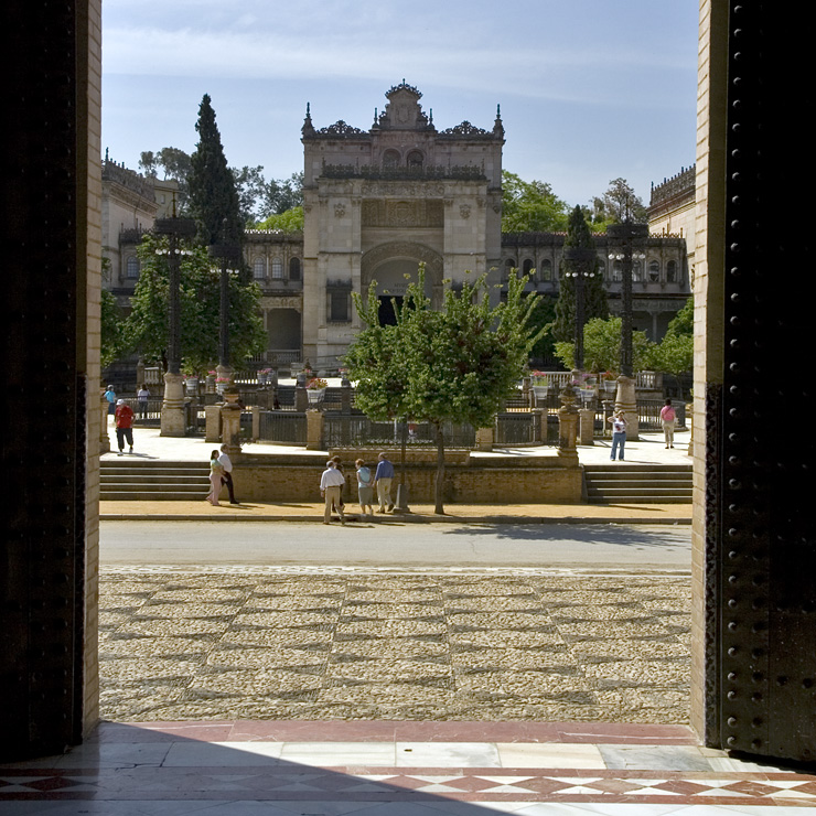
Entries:
POLYGON ((690 504, 690 464, 586 464, 589 504, 690 504))

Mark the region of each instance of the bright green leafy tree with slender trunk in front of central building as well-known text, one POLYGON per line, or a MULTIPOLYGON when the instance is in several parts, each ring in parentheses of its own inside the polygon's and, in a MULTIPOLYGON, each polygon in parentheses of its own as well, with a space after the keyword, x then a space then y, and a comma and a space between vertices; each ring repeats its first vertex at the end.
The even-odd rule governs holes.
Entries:
POLYGON ((522 376, 538 339, 529 320, 535 296, 526 279, 513 276, 507 300, 490 305, 485 277, 448 289, 440 311, 425 293, 425 269, 408 287, 397 322, 379 323, 378 303, 355 299, 365 328, 346 353, 350 379, 357 382, 357 405, 371 417, 412 417, 429 422, 437 440, 434 512, 444 513, 444 423, 491 426, 501 402, 522 376))

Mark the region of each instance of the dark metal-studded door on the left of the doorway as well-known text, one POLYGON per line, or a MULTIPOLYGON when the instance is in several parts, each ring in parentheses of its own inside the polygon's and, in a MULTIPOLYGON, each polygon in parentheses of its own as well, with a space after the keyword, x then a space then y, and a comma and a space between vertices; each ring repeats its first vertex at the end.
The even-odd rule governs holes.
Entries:
POLYGON ((87 26, 87 9, 71 0, 8 2, 0 11, 7 56, 0 172, 2 759, 57 753, 80 739, 83 19, 87 26))

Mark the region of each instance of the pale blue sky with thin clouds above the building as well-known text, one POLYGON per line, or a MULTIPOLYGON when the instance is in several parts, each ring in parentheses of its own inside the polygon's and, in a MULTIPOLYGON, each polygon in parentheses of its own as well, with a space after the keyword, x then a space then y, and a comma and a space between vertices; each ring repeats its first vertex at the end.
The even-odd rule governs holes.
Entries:
POLYGON ((105 0, 103 151, 195 149, 213 99, 227 161, 302 170, 318 128, 367 129, 405 78, 439 129, 491 128, 504 167, 586 204, 623 176, 648 203, 694 163, 696 0, 105 0))

